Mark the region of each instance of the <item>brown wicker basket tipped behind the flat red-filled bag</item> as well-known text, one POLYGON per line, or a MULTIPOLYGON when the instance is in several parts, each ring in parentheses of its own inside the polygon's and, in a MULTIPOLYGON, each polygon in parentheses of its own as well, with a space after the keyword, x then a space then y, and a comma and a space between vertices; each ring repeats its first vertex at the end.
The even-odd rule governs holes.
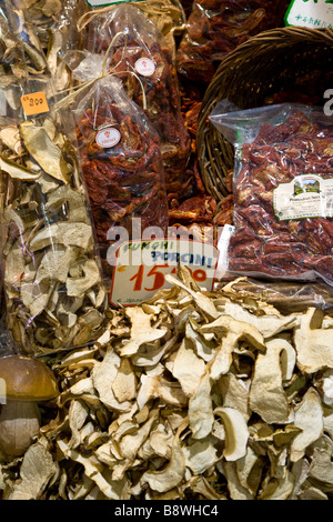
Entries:
POLYGON ((234 150, 208 121, 216 103, 228 98, 240 109, 261 107, 266 97, 291 88, 296 78, 316 70, 333 71, 332 61, 332 29, 290 27, 251 38, 221 62, 203 97, 196 133, 202 181, 218 202, 229 193, 225 175, 233 168, 234 150))

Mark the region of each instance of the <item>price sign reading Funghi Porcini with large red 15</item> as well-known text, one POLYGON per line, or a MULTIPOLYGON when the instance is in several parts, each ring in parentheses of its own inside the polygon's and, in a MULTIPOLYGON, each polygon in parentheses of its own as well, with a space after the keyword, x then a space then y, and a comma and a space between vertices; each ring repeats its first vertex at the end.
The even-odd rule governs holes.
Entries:
POLYGON ((150 240, 122 243, 117 251, 110 302, 140 304, 158 290, 171 288, 165 280, 178 265, 188 267, 201 288, 212 290, 219 250, 213 244, 188 240, 150 240))

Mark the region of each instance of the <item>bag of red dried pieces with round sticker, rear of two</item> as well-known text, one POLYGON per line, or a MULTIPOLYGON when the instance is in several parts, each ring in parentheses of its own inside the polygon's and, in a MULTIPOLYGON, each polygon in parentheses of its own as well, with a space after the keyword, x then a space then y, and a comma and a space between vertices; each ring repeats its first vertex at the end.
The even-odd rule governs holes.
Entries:
POLYGON ((191 140, 172 52, 157 26, 133 6, 95 14, 88 24, 85 50, 90 57, 110 57, 108 70, 122 79, 160 135, 168 193, 185 198, 191 190, 185 172, 191 140))

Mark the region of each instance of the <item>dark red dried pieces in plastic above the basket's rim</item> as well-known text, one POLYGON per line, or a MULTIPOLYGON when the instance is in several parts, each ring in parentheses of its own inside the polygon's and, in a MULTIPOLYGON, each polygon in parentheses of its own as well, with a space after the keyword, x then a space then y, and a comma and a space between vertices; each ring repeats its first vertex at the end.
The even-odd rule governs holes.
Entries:
POLYGON ((209 83, 221 60, 261 31, 283 27, 290 0, 194 0, 176 53, 178 72, 209 83))

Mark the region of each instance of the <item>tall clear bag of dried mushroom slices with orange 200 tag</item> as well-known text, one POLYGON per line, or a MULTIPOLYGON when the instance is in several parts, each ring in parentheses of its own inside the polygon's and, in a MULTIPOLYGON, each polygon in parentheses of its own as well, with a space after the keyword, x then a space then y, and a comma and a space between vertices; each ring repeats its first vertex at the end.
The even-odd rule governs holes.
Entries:
POLYGON ((42 50, 12 2, 1 13, 0 47, 8 83, 0 122, 7 323, 19 351, 49 353, 99 335, 107 294, 74 128, 52 110, 42 50))

